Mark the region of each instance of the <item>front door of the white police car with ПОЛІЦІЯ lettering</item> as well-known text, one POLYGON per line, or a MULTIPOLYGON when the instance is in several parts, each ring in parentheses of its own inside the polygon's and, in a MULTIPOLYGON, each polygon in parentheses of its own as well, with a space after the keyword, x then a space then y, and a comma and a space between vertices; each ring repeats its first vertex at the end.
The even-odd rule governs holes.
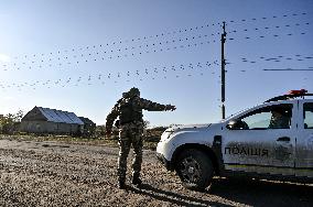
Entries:
POLYGON ((222 142, 225 170, 294 175, 296 110, 292 102, 267 103, 228 121, 222 142))

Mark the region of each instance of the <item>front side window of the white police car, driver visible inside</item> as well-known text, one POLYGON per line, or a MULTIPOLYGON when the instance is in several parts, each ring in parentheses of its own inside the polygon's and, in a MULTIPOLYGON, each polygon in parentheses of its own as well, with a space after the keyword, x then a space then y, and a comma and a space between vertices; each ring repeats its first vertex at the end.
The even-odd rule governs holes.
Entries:
POLYGON ((244 116, 240 120, 247 123, 247 129, 290 129, 292 105, 276 105, 257 109, 244 116))

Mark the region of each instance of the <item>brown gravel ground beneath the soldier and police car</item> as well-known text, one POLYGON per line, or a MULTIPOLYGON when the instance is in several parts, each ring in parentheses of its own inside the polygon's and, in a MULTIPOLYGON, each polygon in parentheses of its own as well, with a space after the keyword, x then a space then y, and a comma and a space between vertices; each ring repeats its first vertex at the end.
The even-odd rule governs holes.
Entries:
POLYGON ((185 189, 153 151, 143 185, 129 178, 123 190, 117 157, 116 148, 0 140, 0 206, 313 206, 313 185, 216 177, 206 192, 185 189))

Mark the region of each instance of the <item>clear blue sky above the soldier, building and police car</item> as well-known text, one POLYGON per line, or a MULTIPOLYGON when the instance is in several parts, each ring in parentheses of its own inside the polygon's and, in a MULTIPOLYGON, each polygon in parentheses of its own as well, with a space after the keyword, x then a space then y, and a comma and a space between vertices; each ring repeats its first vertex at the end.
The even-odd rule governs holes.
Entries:
POLYGON ((105 123, 136 86, 177 107, 151 126, 220 119, 291 89, 313 92, 311 0, 0 0, 0 113, 34 106, 105 123), (274 72, 263 69, 309 69, 274 72), (310 70, 311 69, 311 70, 310 70))

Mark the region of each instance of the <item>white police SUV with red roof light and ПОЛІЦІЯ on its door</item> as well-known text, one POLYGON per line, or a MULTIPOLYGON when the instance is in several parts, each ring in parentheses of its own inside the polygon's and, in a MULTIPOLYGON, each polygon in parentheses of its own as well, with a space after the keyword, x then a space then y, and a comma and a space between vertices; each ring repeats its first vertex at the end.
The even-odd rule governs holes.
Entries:
POLYGON ((212 177, 313 182, 313 99, 291 90, 219 123, 172 127, 156 155, 183 186, 203 190, 212 177))

